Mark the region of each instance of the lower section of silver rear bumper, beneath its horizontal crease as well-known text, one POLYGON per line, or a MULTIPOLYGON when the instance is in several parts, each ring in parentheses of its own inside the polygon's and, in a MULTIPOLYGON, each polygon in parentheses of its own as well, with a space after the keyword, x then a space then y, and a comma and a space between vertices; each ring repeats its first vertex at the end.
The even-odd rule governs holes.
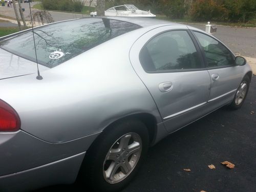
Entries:
POLYGON ((76 180, 86 153, 0 177, 0 191, 29 191, 36 188, 70 184, 76 180))

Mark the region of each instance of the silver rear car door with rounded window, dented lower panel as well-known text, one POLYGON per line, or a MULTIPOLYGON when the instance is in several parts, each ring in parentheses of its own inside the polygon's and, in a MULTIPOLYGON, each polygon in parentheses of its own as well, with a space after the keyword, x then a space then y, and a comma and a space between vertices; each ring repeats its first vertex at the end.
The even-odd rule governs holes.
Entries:
POLYGON ((190 35, 185 26, 160 27, 142 35, 130 51, 168 132, 202 116, 209 97, 210 77, 190 35))

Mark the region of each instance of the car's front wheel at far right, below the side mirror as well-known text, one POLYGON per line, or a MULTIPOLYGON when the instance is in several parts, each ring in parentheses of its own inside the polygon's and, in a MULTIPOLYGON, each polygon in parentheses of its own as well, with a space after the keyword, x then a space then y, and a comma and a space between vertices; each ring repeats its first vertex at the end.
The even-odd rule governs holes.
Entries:
POLYGON ((229 105, 232 110, 237 110, 241 108, 247 96, 249 86, 250 86, 250 78, 246 75, 241 81, 241 83, 239 84, 237 92, 234 95, 234 98, 229 105))

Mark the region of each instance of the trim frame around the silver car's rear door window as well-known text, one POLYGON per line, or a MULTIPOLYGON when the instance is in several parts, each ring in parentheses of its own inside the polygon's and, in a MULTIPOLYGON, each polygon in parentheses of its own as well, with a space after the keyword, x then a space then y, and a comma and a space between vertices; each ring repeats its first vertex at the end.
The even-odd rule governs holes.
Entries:
POLYGON ((203 59, 203 56, 202 56, 202 53, 201 53, 201 49, 200 47, 198 46, 198 43, 194 37, 194 35, 191 34, 190 30, 189 29, 170 29, 170 30, 166 30, 166 31, 162 31, 160 33, 157 33, 155 34, 154 36, 152 36, 150 39, 148 39, 146 41, 146 43, 144 44, 144 46, 141 48, 140 50, 140 53, 139 53, 139 61, 140 61, 140 65, 142 66, 143 70, 146 72, 146 73, 150 73, 150 74, 155 74, 155 73, 177 73, 177 72, 189 72, 189 71, 204 71, 206 66, 205 66, 205 62, 204 62, 204 59, 203 59), (147 44, 152 40, 154 39, 155 37, 163 34, 163 33, 167 33, 167 32, 172 32, 172 31, 186 31, 188 36, 190 37, 191 41, 193 42, 193 45, 195 46, 195 49, 197 51, 197 54, 198 54, 198 57, 199 57, 199 60, 201 62, 201 68, 197 68, 197 69, 172 69, 172 70, 161 70, 161 71, 147 71, 145 68, 144 68, 144 65, 143 65, 143 62, 141 62, 142 58, 141 58, 141 52, 142 50, 147 46, 147 44))

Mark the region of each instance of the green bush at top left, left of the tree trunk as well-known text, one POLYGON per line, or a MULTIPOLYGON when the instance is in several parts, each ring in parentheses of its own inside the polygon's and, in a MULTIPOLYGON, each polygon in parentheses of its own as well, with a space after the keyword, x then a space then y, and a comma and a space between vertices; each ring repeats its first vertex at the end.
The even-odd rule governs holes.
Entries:
POLYGON ((42 0, 42 7, 47 10, 81 12, 83 1, 81 0, 42 0))

